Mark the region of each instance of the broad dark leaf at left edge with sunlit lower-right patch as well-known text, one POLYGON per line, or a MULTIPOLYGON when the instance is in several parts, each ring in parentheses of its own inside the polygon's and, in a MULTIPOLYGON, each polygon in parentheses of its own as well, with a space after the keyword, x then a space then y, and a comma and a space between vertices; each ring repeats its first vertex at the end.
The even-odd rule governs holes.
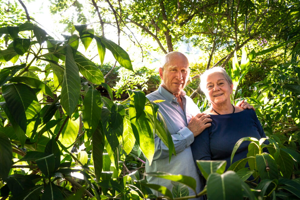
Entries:
POLYGON ((15 121, 26 132, 28 120, 32 120, 40 111, 35 92, 25 84, 3 85, 2 95, 15 121))

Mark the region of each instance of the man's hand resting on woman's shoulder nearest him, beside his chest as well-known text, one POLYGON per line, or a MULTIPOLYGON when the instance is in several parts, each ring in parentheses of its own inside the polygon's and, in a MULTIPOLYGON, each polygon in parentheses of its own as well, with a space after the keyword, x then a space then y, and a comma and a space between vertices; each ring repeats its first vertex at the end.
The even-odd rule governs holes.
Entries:
POLYGON ((190 122, 188 123, 188 129, 192 131, 194 137, 202 133, 205 128, 210 127, 212 124, 208 123, 212 122, 210 115, 199 113, 196 116, 192 116, 190 122))

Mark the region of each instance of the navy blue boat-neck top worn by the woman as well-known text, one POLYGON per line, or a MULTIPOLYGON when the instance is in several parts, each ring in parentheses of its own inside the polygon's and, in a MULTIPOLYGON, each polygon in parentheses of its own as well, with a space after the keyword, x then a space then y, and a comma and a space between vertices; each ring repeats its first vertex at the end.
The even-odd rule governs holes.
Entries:
MULTIPOLYGON (((244 137, 265 138, 265 132, 255 111, 245 109, 226 115, 210 115, 212 126, 195 137, 191 145, 194 161, 226 160, 230 166, 231 153, 235 143, 244 137)), ((264 142, 269 144, 267 140, 264 142)), ((235 152, 232 163, 247 157, 250 141, 242 142, 235 152)))

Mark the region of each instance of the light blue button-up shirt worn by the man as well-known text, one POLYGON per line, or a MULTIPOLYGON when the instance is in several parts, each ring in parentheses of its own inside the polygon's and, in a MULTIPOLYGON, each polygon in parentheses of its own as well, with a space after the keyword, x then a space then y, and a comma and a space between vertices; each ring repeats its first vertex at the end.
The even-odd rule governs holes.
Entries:
MULTIPOLYGON (((187 128, 188 122, 192 116, 200 113, 198 106, 193 102, 191 98, 182 92, 181 98, 183 103, 183 110, 177 102, 177 98, 170 92, 168 92, 162 86, 159 86, 158 90, 152 92, 146 96, 150 101, 154 100, 165 100, 159 102, 158 111, 162 114, 165 122, 168 126, 168 130, 171 133, 176 156, 172 155, 169 163, 169 150, 162 140, 155 135, 155 152, 152 164, 146 162, 146 173, 149 172, 168 172, 171 174, 181 174, 191 176, 195 178, 197 182, 197 193, 200 192, 200 181, 195 166, 192 151, 190 145, 194 142, 193 133, 187 128)), ((163 185, 172 191, 172 183, 170 180, 148 176, 147 180, 149 183, 163 185)), ((154 194, 158 195, 157 192, 153 191, 154 194)), ((194 195, 195 193, 189 188, 189 194, 194 195)))

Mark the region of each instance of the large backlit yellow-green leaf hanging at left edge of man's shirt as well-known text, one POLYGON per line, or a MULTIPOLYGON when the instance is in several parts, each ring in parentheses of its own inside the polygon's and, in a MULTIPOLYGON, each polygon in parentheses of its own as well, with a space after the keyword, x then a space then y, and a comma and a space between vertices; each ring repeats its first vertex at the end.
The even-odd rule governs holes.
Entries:
POLYGON ((129 118, 135 139, 151 165, 154 155, 154 134, 149 119, 146 118, 143 111, 142 115, 136 120, 136 112, 132 102, 129 106, 129 118))

